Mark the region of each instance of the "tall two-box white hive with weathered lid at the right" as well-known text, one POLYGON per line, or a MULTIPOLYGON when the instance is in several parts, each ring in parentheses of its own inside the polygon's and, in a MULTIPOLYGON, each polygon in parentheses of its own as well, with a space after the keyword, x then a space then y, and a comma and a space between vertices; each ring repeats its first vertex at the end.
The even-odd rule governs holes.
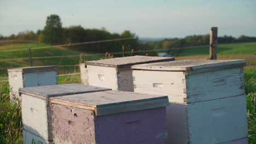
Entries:
POLYGON ((245 65, 245 60, 134 65, 134 91, 168 95, 168 143, 239 143, 247 137, 245 65))

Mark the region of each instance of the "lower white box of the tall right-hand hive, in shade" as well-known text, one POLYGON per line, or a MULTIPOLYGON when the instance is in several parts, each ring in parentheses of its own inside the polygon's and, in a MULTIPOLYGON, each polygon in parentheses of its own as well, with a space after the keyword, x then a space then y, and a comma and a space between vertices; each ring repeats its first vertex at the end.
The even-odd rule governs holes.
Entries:
POLYGON ((166 107, 168 143, 222 143, 247 137, 245 95, 166 107))

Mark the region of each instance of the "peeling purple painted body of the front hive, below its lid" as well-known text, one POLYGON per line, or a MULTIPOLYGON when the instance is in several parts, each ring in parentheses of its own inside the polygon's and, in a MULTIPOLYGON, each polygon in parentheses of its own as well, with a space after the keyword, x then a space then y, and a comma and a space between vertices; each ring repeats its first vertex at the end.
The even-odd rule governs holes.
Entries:
POLYGON ((107 116, 59 104, 52 109, 56 143, 166 143, 165 107, 107 116))

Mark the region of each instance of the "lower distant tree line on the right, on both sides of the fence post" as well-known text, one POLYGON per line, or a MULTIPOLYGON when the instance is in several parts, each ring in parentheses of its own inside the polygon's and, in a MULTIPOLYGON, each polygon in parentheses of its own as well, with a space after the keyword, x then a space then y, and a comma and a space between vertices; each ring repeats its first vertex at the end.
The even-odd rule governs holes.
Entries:
MULTIPOLYGON (((218 43, 242 43, 242 42, 255 42, 255 37, 247 37, 245 35, 241 35, 239 38, 234 38, 232 36, 218 37, 218 43)), ((152 49, 172 49, 176 47, 188 47, 188 46, 199 46, 198 48, 186 49, 186 50, 169 50, 167 52, 171 53, 173 56, 188 56, 188 55, 208 55, 209 53, 209 43, 210 43, 210 35, 189 35, 185 38, 172 38, 165 39, 161 41, 150 41, 148 44, 152 49), (206 46, 202 46, 206 45, 206 46)), ((236 44, 233 44, 236 45, 236 44)), ((231 46, 231 45, 229 45, 231 46)), ((255 47, 255 43, 254 43, 255 47)), ((254 48, 253 47, 253 48, 254 48)), ((229 49, 235 50, 236 53, 244 53, 246 50, 253 51, 252 47, 238 47, 240 49, 236 50, 232 47, 219 47, 218 45, 218 53, 222 53, 222 51, 226 51, 229 49), (241 49, 242 48, 242 49, 241 49), (243 51, 245 49, 245 51, 243 51)), ((253 51, 254 52, 254 51, 253 51)), ((228 52, 228 54, 232 53, 228 52)), ((223 53, 224 54, 224 53, 223 53)))

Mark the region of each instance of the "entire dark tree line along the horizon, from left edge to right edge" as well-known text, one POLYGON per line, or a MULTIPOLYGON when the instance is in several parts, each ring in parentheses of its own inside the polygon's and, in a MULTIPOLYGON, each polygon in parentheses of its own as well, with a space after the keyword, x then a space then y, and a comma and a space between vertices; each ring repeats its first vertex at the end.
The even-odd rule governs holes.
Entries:
MULTIPOLYGON (((107 39, 119 39, 119 38, 134 38, 131 40, 123 41, 111 41, 108 43, 77 45, 69 48, 77 49, 86 52, 120 52, 124 45, 125 51, 133 50, 152 50, 152 49, 170 49, 173 47, 186 47, 186 46, 198 46, 209 45, 210 35, 189 35, 185 38, 172 38, 164 39, 160 41, 149 41, 147 43, 139 43, 138 37, 135 33, 130 31, 124 31, 123 33, 110 33, 105 28, 101 29, 86 29, 82 26, 70 26, 62 27, 61 19, 58 15, 50 15, 46 19, 46 25, 44 29, 38 30, 36 33, 33 31, 20 32, 17 35, 11 34, 9 37, 3 37, 1 39, 8 40, 33 40, 38 43, 46 43, 51 45, 56 44, 69 44, 69 43, 81 43, 84 41, 96 41, 107 39)), ((238 38, 224 35, 218 37, 218 43, 243 43, 256 41, 256 37, 247 37, 241 35, 238 38)), ((179 51, 168 51, 172 55, 179 51)))

